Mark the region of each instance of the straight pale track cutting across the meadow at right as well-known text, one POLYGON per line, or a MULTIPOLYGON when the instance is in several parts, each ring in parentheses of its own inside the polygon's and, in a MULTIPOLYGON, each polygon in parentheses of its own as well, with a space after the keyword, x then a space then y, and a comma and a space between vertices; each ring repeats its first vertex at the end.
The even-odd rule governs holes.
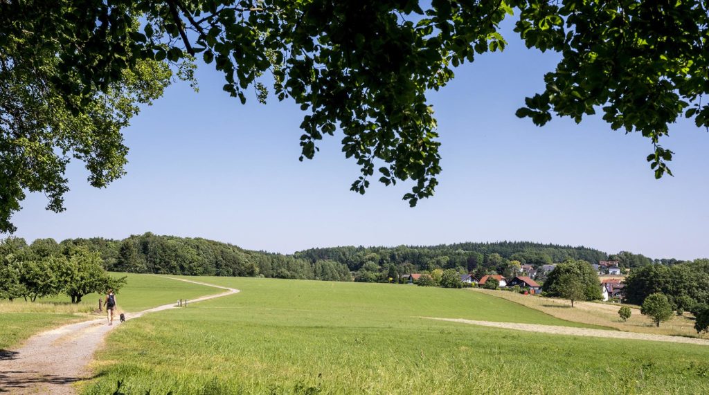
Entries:
POLYGON ((515 324, 511 322, 474 321, 469 319, 445 319, 435 317, 422 317, 425 319, 435 319, 438 321, 461 322, 463 324, 473 324, 480 326, 493 326, 495 328, 515 329, 516 331, 527 331, 537 333, 552 333, 554 335, 590 336, 594 338, 614 338, 630 340, 652 340, 669 343, 689 343, 709 345, 709 340, 700 338, 685 338, 682 336, 653 335, 652 333, 604 331, 603 329, 572 328, 571 326, 540 325, 540 324, 515 324))

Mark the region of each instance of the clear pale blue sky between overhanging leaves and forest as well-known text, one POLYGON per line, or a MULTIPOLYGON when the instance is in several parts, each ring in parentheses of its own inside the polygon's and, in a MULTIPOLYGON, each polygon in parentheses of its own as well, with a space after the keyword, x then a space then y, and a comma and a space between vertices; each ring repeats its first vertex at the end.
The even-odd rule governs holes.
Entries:
POLYGON ((201 65, 200 92, 171 86, 125 130, 128 175, 98 190, 78 162, 69 167, 67 211, 44 210, 30 194, 13 217, 16 236, 130 234, 199 236, 243 248, 291 253, 338 245, 432 245, 523 240, 621 250, 652 258, 709 256, 709 133, 671 126, 674 177, 657 181, 640 134, 613 131, 600 116, 581 125, 554 118, 543 128, 514 113, 542 90, 557 55, 527 50, 507 26, 503 53, 481 55, 430 93, 442 142, 435 197, 415 208, 410 183, 359 176, 340 138, 298 161, 303 113, 271 98, 246 105, 221 91, 223 77, 201 65))

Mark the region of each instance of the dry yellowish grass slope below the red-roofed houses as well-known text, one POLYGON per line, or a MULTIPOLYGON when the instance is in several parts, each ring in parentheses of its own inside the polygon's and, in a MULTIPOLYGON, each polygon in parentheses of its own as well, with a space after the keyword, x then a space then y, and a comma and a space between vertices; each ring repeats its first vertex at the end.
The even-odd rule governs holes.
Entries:
POLYGON ((606 326, 625 332, 697 337, 697 332, 694 330, 694 321, 686 314, 682 316, 673 315, 669 321, 663 322, 658 328, 647 316, 640 314, 640 309, 637 306, 630 304, 574 302, 574 307, 571 308, 571 302, 565 299, 523 295, 508 291, 484 290, 481 288, 473 288, 472 291, 506 299, 559 319, 606 326), (618 316, 618 310, 621 306, 630 307, 632 311, 630 319, 625 322, 618 316))

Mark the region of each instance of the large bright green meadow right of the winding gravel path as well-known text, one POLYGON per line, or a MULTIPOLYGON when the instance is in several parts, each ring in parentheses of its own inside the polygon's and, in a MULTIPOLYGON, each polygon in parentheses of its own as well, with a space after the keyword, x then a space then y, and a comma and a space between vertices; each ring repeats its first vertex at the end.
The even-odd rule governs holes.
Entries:
POLYGON ((466 290, 200 277, 240 294, 118 328, 84 394, 705 394, 709 348, 420 316, 584 326, 466 290))

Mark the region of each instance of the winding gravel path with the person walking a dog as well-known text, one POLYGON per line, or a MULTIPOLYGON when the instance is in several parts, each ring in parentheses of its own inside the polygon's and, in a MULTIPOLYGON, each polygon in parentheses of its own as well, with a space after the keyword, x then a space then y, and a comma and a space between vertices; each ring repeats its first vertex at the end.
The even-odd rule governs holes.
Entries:
MULTIPOLYGON (((233 288, 205 282, 169 278, 227 290, 220 294, 192 299, 189 303, 239 292, 233 288)), ((129 314, 126 319, 135 319, 146 313, 175 307, 175 304, 165 304, 129 314)), ((106 334, 118 326, 121 326, 121 323, 117 316, 112 326, 108 326, 105 317, 65 325, 29 338, 17 350, 0 353, 0 393, 74 394, 72 383, 91 378, 86 366, 91 362, 94 352, 103 345, 106 334)))

